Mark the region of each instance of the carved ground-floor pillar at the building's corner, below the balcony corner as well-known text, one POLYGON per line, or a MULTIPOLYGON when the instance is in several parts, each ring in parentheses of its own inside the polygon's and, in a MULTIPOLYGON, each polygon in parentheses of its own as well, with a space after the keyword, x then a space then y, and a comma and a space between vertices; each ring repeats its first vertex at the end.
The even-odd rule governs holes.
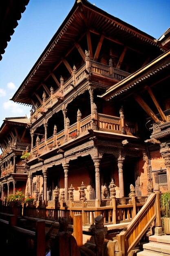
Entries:
POLYGON ((93 162, 95 165, 95 182, 96 182, 96 199, 101 200, 101 189, 100 189, 100 157, 94 157, 93 162))

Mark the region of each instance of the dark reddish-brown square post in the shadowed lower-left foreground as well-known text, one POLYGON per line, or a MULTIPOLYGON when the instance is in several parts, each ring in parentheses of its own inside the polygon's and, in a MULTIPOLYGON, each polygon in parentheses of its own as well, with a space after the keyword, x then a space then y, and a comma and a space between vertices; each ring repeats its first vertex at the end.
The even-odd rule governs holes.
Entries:
POLYGON ((45 221, 38 220, 36 222, 36 248, 37 256, 45 256, 45 221))

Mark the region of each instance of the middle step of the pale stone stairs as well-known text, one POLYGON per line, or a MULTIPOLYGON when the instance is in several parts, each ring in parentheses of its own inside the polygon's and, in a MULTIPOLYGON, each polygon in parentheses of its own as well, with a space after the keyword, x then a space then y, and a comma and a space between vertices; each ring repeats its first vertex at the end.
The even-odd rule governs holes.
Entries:
POLYGON ((157 252, 157 253, 163 253, 170 255, 170 245, 165 245, 162 243, 146 243, 143 245, 144 251, 147 250, 147 252, 157 252))

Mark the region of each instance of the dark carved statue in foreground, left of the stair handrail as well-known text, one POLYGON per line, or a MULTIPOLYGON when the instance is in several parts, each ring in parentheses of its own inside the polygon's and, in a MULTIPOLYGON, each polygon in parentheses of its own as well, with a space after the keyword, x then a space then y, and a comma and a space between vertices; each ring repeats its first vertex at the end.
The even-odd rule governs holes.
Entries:
POLYGON ((104 256, 104 240, 108 228, 104 227, 103 216, 99 215, 95 218, 95 228, 92 229, 95 238, 96 256, 104 256))

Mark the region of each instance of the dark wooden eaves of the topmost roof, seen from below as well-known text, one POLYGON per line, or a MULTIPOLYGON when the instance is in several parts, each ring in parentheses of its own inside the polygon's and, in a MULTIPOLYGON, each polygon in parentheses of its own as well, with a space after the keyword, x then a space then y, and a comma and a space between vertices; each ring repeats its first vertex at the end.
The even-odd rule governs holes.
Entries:
POLYGON ((61 62, 62 57, 71 46, 74 47, 74 43, 80 35, 90 28, 101 33, 101 24, 104 24, 104 32, 109 33, 110 36, 114 37, 119 34, 125 40, 126 38, 133 39, 135 43, 142 42, 144 45, 160 48, 152 36, 106 13, 86 0, 76 0, 68 16, 11 100, 31 105, 31 94, 35 88, 44 82, 44 79, 51 73, 56 63, 61 62))

